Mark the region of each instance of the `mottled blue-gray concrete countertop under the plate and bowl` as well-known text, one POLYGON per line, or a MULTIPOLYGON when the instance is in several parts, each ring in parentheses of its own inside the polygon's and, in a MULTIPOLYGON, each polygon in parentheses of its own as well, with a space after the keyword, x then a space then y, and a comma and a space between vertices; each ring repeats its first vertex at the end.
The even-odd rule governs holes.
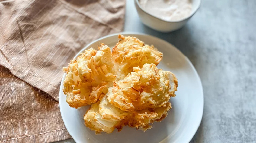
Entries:
POLYGON ((124 31, 164 39, 195 66, 204 111, 191 143, 256 142, 256 0, 202 0, 188 23, 171 33, 144 26, 127 0, 124 31))

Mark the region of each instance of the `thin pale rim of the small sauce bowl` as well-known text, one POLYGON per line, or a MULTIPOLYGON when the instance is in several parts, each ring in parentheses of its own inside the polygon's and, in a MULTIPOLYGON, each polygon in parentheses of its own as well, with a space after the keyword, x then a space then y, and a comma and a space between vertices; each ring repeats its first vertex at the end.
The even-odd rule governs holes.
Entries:
POLYGON ((150 15, 150 16, 152 16, 152 17, 154 17, 154 18, 156 18, 156 19, 158 19, 158 20, 160 20, 160 21, 171 22, 171 23, 182 22, 182 21, 188 20, 189 18, 191 18, 191 17, 196 13, 196 11, 199 9, 199 7, 200 7, 200 5, 201 5, 201 0, 199 0, 199 4, 197 5, 196 10, 195 10, 194 12, 192 12, 188 17, 183 18, 183 19, 180 19, 180 20, 171 21, 171 20, 164 20, 164 19, 161 19, 161 18, 159 18, 159 17, 157 17, 157 16, 154 16, 154 15, 148 13, 147 11, 145 11, 145 10, 140 6, 139 0, 134 0, 134 1, 135 1, 135 4, 136 4, 143 12, 145 12, 146 14, 148 14, 148 15, 150 15))

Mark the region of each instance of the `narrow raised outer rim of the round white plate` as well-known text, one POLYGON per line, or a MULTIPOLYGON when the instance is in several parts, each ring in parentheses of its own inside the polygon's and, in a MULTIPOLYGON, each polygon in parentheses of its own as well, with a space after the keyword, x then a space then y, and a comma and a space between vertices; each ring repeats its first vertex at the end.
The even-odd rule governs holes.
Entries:
MULTIPOLYGON (((113 34, 109 34, 109 35, 100 37, 100 38, 98 38, 98 39, 96 39, 96 40, 93 40, 92 42, 86 44, 86 45, 73 57, 73 59, 76 58, 76 57, 77 57, 81 52, 83 52, 86 48, 88 48, 88 45, 91 45, 91 44, 93 44, 93 43, 95 43, 95 42, 97 42, 97 41, 99 41, 99 40, 105 39, 105 38, 107 38, 107 37, 118 36, 119 34, 136 34, 136 35, 149 36, 149 37, 158 39, 158 40, 160 40, 161 42, 166 42, 166 43, 172 45, 176 50, 178 50, 178 52, 179 52, 182 56, 185 57, 185 59, 188 61, 188 64, 192 67, 192 70, 196 73, 196 76, 198 77, 200 92, 201 92, 201 95, 202 95, 202 105, 201 105, 201 106, 202 106, 202 107, 201 107, 202 111, 201 111, 200 114, 199 114, 199 115, 200 115, 200 121, 197 122, 197 128, 195 128, 194 130, 192 130, 191 132, 192 132, 193 134, 191 134, 191 136, 188 137, 188 138, 189 138, 188 143, 189 143, 189 142, 192 140, 192 138, 194 137, 194 135, 196 134, 196 132, 197 132, 197 130, 198 130, 198 128, 199 128, 199 126, 200 126, 200 124, 201 124, 201 122, 202 122, 202 118, 203 118, 203 110, 204 110, 203 86, 202 86, 202 82, 201 82, 200 76, 198 75, 198 73, 197 73, 197 71, 196 71, 196 68, 194 67, 194 65, 192 64, 192 62, 189 60, 189 58, 188 58, 186 55, 184 55, 184 54, 183 54, 178 48, 176 48, 173 44, 171 44, 171 43, 169 43, 168 41, 165 41, 165 40, 163 40, 163 39, 160 39, 160 38, 158 38, 158 37, 156 37, 156 36, 152 36, 152 35, 145 34, 145 33, 139 33, 139 32, 118 32, 118 33, 113 33, 113 34)), ((66 77, 66 73, 63 74, 63 77, 62 77, 62 80, 61 80, 61 84, 60 84, 60 85, 63 85, 63 81, 65 80, 65 77, 66 77)), ((59 99, 61 98, 61 92, 63 92, 63 91, 62 91, 61 86, 60 86, 60 89, 59 89, 59 99)), ((59 100, 59 101, 60 101, 60 100, 59 100)), ((64 125, 65 125, 65 127, 66 127, 66 129, 67 129, 67 131, 68 131, 68 133, 71 135, 70 130, 69 130, 69 129, 67 128, 67 126, 66 126, 66 122, 63 120, 63 110, 61 110, 61 108, 62 108, 61 105, 62 105, 62 103, 59 102, 59 109, 60 109, 61 119, 62 119, 62 121, 63 121, 63 123, 64 123, 64 125)), ((71 135, 71 137, 72 137, 72 139, 73 139, 75 142, 77 142, 77 140, 76 140, 72 135, 71 135)), ((160 142, 161 142, 161 141, 160 141, 160 142)))

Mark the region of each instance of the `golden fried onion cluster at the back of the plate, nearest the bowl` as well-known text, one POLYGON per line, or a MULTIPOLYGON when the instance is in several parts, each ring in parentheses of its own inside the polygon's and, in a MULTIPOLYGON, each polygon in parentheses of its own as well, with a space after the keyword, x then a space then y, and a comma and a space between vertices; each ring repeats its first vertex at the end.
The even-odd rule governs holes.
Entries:
POLYGON ((124 37, 112 50, 112 55, 116 65, 119 67, 121 78, 133 71, 133 67, 142 68, 146 63, 158 65, 162 60, 163 53, 159 52, 153 45, 145 45, 136 37, 124 37))

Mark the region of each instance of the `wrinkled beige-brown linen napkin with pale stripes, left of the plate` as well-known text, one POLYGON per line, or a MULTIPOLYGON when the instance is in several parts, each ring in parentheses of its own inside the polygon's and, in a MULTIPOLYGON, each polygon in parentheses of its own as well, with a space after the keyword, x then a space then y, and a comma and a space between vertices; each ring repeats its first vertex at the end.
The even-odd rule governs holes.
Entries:
POLYGON ((70 138, 60 116, 62 67, 122 30, 124 0, 0 2, 0 142, 70 138))

